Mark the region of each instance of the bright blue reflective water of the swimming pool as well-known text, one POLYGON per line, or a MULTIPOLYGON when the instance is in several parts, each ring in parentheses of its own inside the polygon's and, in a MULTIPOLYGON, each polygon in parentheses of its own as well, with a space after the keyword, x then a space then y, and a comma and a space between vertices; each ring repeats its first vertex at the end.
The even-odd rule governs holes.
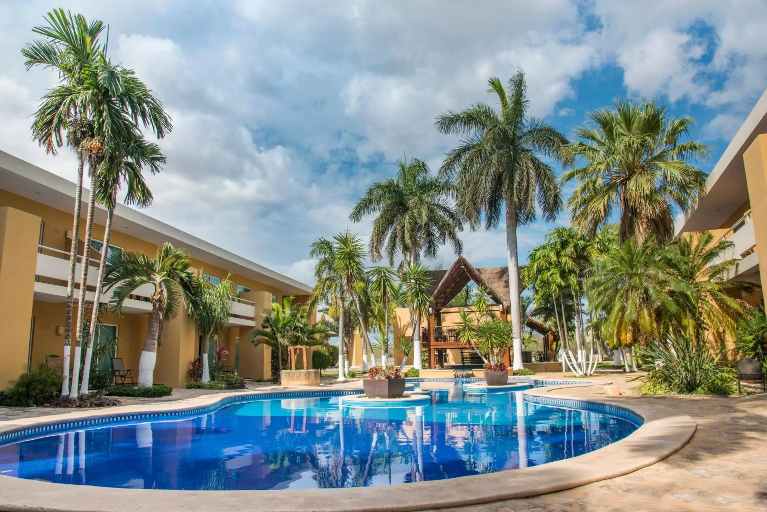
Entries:
POLYGON ((207 415, 28 438, 0 446, 0 474, 145 489, 362 487, 545 464, 637 428, 628 416, 539 405, 518 392, 418 386, 427 405, 261 398, 207 415))

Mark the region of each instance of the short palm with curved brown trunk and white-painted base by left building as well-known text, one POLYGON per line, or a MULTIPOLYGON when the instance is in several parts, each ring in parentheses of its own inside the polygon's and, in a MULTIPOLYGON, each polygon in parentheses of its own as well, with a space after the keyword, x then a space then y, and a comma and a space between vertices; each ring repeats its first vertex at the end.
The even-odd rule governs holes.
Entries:
POLYGON ((152 313, 149 329, 139 361, 140 388, 151 386, 157 347, 162 344, 163 323, 176 318, 185 309, 196 308, 202 296, 199 282, 190 271, 192 260, 186 249, 176 249, 170 243, 163 243, 157 249, 154 259, 143 253, 123 251, 107 264, 104 284, 107 290, 114 287, 112 304, 114 311, 121 314, 123 302, 137 288, 152 285, 152 313))

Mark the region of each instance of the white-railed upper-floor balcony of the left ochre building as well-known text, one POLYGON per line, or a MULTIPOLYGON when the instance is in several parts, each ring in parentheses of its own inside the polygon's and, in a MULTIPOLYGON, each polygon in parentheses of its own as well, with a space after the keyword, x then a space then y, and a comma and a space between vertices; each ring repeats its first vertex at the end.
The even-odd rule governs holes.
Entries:
MULTIPOLYGON (((82 262, 82 256, 77 256, 78 262, 82 262)), ((87 286, 94 289, 98 279, 97 259, 89 260, 87 286)), ((80 284, 82 263, 77 263, 74 271, 74 279, 77 286, 80 284)), ((38 262, 35 270, 35 300, 43 302, 64 302, 67 300, 67 280, 69 279, 69 253, 61 249, 47 246, 38 246, 38 262)), ((146 314, 152 311, 151 298, 154 286, 143 285, 133 290, 130 299, 123 304, 123 312, 133 314, 146 314)), ((101 296, 101 302, 110 302, 111 292, 101 296)), ((74 297, 79 298, 80 292, 75 287, 74 297)), ((85 299, 93 302, 94 292, 87 292, 85 299)), ((230 316, 228 325, 255 326, 255 303, 249 300, 235 298, 230 302, 230 316)))

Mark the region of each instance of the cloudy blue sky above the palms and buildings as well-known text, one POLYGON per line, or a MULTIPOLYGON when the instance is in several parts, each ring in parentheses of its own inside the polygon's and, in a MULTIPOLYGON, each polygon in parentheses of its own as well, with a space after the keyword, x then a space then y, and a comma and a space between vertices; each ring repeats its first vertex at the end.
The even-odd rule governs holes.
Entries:
MULTIPOLYGON (((706 171, 767 88, 765 0, 0 0, 0 149, 70 180, 74 155, 29 130, 57 77, 21 57, 57 7, 109 24, 110 58, 173 117, 146 213, 309 284, 312 241, 367 241, 354 202, 405 154, 439 169, 456 138, 435 117, 492 103, 490 77, 522 69, 529 114, 565 134, 614 98, 657 98, 695 117, 706 171)), ((568 222, 522 227, 521 259, 568 222)), ((461 236, 475 266, 505 264, 502 230, 461 236)))

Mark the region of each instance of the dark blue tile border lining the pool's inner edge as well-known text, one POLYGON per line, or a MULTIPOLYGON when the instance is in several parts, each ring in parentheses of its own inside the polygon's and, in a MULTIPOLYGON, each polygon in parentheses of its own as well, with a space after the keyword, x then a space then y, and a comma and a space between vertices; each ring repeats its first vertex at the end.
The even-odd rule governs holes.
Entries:
MULTIPOLYGON (((479 382, 484 380, 483 378, 408 378, 407 382, 479 382)), ((573 385, 573 384, 588 384, 588 382, 573 382, 573 381, 550 381, 533 378, 510 378, 511 382, 528 382, 531 385, 537 387, 552 386, 552 385, 573 385)), ((126 424, 133 423, 135 421, 150 420, 150 421, 166 421, 175 420, 184 417, 193 417, 203 414, 209 414, 219 409, 225 408, 229 405, 239 403, 241 401, 258 401, 258 400, 272 400, 274 398, 330 398, 343 395, 358 395, 363 390, 357 389, 323 389, 317 391, 268 391, 265 393, 248 393, 242 395, 231 395, 222 398, 210 405, 195 408, 183 408, 173 411, 156 411, 156 412, 137 412, 125 415, 104 415, 95 418, 82 418, 80 420, 72 421, 57 421, 48 424, 38 424, 31 427, 18 428, 10 431, 0 433, 0 445, 10 442, 21 441, 25 438, 39 437, 41 434, 57 434, 65 431, 71 431, 72 429, 99 427, 104 424, 126 424)), ((633 421, 640 425, 644 422, 644 419, 637 415, 634 411, 630 411, 627 408, 617 407, 614 405, 600 404, 593 401, 574 400, 570 398, 548 398, 538 396, 525 395, 525 400, 538 403, 541 405, 554 405, 556 407, 566 408, 578 408, 587 411, 604 412, 605 414, 618 416, 620 418, 633 421)))

